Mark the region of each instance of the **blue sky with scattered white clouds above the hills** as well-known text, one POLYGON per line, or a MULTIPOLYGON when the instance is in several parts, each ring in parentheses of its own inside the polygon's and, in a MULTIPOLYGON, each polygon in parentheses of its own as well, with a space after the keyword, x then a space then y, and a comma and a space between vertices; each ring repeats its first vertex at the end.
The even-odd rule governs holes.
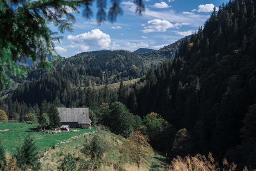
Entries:
MULTIPOLYGON (((223 0, 144 0, 145 11, 135 13, 134 1, 122 0, 123 14, 116 22, 97 24, 96 2, 93 3, 93 17, 86 19, 80 13, 73 14, 76 23, 73 32, 59 33, 61 42, 55 43, 57 53, 63 57, 74 56, 81 52, 107 50, 135 51, 139 48, 161 49, 168 44, 191 35, 204 26, 213 7, 223 0)), ((107 9, 111 2, 107 2, 107 9)), ((51 26, 52 31, 57 31, 51 26)))

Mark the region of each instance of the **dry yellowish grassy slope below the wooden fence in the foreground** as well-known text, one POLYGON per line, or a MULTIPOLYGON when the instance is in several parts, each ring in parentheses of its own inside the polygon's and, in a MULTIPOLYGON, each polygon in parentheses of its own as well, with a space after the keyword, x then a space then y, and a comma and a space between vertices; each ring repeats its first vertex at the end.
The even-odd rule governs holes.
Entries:
MULTIPOLYGON (((104 131, 103 134, 105 135, 105 139, 110 143, 110 150, 103 156, 101 160, 103 165, 100 170, 113 171, 116 170, 114 166, 117 165, 119 168, 121 167, 127 171, 137 171, 137 166, 129 162, 126 156, 119 152, 119 149, 122 147, 122 143, 125 143, 126 140, 123 137, 110 132, 104 131)), ((92 136, 93 135, 87 135, 85 138, 90 139, 92 136)), ((78 138, 72 142, 61 144, 55 149, 51 149, 47 155, 45 155, 43 162, 41 162, 41 169, 47 171, 58 170, 58 166, 61 164, 64 155, 67 153, 71 153, 72 155, 74 154, 75 158, 80 157, 81 160, 89 160, 89 156, 85 156, 81 152, 85 143, 85 138, 78 138)), ((164 160, 165 158, 162 155, 153 155, 150 160, 141 165, 140 171, 164 171, 166 170, 166 163, 164 163, 164 160)), ((79 164, 77 164, 77 166, 79 166, 79 164)))

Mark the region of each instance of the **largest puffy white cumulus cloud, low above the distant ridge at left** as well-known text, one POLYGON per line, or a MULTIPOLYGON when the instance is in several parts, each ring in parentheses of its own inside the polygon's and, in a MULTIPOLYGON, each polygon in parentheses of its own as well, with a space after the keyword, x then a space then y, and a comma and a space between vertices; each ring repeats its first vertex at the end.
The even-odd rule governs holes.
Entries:
POLYGON ((88 50, 89 46, 106 49, 111 42, 110 36, 99 29, 92 29, 87 33, 82 33, 76 36, 68 35, 67 39, 72 43, 69 47, 78 47, 82 50, 88 50))

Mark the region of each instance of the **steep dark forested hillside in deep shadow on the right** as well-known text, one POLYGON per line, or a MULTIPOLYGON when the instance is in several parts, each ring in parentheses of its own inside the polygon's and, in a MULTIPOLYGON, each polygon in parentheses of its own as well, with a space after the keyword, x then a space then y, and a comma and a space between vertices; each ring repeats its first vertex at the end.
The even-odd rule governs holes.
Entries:
POLYGON ((155 111, 180 130, 171 155, 210 151, 256 167, 255 5, 234 0, 214 9, 204 28, 182 40, 173 61, 141 80, 137 114, 155 111))

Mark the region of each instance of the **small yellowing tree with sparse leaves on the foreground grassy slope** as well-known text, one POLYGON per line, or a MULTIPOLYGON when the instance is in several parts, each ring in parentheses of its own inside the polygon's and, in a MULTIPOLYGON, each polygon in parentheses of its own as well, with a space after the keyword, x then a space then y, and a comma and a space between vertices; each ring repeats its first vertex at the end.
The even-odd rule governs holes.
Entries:
POLYGON ((138 167, 147 158, 152 156, 153 149, 148 143, 148 136, 143 135, 140 131, 131 134, 127 143, 123 143, 123 150, 131 162, 135 162, 138 167))

